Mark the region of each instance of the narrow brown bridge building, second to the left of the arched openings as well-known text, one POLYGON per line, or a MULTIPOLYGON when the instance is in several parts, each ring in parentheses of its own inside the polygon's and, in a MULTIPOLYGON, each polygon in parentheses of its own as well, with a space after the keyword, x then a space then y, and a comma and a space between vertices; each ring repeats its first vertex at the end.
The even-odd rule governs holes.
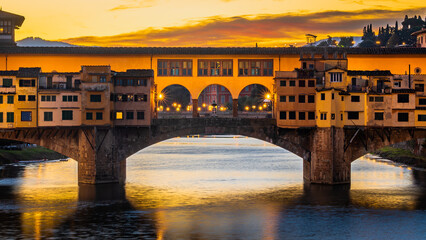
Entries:
MULTIPOLYGON (((113 102, 113 84, 110 66, 82 66, 82 125, 111 125, 113 102)), ((63 111, 64 112, 64 111, 63 111)), ((65 119, 74 119, 71 111, 66 112, 65 119)))

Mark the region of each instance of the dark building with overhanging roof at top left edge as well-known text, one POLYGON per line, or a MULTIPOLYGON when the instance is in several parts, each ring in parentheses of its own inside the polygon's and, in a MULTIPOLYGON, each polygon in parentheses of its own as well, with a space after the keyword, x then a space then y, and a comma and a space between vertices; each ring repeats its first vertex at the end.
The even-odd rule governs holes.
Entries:
POLYGON ((0 10, 0 46, 16 46, 15 29, 24 23, 25 18, 20 15, 0 10))

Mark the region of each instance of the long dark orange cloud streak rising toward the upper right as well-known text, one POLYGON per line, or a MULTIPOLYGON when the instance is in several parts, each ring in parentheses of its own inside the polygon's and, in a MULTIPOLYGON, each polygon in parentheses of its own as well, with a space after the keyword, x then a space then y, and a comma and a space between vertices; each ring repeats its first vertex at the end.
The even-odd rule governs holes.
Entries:
POLYGON ((220 17, 212 16, 183 26, 140 31, 105 37, 84 36, 63 41, 86 46, 282 46, 303 42, 305 34, 361 35, 370 23, 374 27, 393 24, 405 14, 424 13, 426 8, 405 10, 324 11, 306 14, 281 14, 220 17))

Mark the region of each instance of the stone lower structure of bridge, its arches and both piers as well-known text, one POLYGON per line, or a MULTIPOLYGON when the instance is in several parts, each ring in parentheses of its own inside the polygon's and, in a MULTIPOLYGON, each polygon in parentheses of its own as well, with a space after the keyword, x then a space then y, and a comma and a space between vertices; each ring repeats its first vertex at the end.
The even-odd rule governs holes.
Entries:
MULTIPOLYGON (((78 161, 80 184, 124 183, 126 158, 173 137, 229 134, 261 139, 303 159, 308 183, 350 183, 351 162, 381 147, 426 138, 416 128, 278 128, 274 119, 154 119, 150 127, 49 127, 0 130, 0 139, 37 144, 78 161)), ((283 161, 285 161, 283 159, 283 161)))

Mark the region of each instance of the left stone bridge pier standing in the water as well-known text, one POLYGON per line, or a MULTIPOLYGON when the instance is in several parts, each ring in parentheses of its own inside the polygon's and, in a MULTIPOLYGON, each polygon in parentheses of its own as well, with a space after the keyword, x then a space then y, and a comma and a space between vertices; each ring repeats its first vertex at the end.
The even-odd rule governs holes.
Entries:
POLYGON ((79 185, 125 183, 126 159, 118 156, 114 141, 110 128, 92 127, 79 131, 79 185))

